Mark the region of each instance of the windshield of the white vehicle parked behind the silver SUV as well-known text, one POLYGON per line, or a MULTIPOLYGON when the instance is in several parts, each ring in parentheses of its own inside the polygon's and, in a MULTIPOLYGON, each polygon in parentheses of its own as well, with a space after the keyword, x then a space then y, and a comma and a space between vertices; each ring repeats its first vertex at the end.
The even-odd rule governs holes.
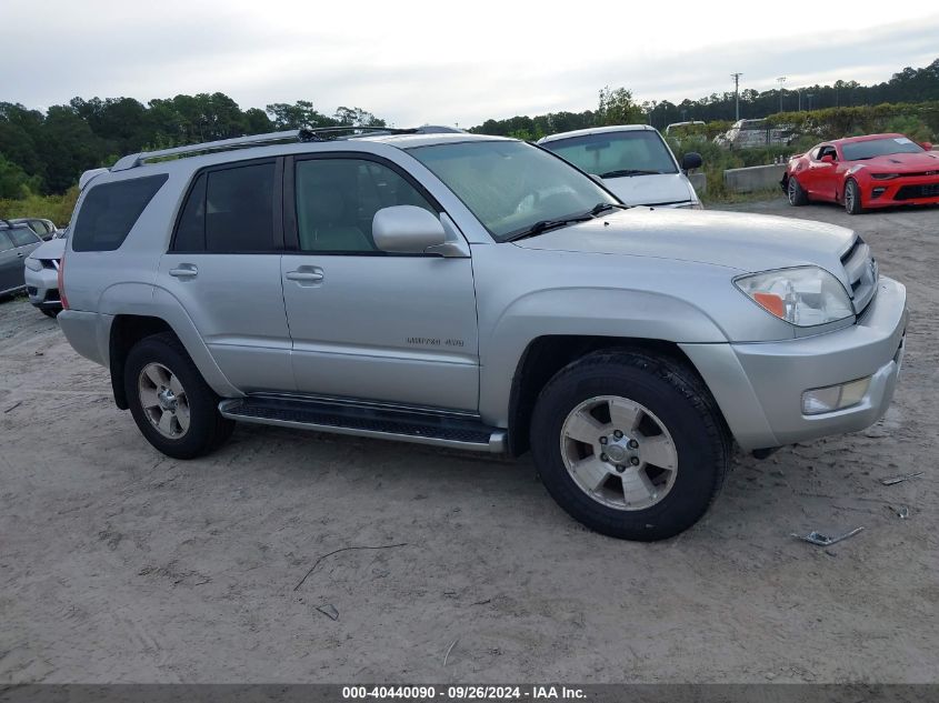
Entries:
POLYGON ((585 134, 541 145, 600 178, 678 173, 671 151, 659 133, 651 130, 585 134))

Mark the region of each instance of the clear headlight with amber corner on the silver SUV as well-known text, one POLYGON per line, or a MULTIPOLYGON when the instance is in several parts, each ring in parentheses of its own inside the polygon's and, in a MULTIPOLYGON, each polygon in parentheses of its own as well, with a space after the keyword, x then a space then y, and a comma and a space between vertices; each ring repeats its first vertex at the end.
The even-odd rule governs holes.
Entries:
POLYGON ((763 310, 796 327, 810 328, 855 314, 845 287, 818 267, 741 275, 733 283, 763 310))

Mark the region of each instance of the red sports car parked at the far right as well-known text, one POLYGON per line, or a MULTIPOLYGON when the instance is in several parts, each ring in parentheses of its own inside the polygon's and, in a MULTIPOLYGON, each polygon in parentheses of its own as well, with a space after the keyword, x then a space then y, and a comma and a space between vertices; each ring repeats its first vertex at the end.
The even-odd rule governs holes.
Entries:
POLYGON ((792 157, 782 177, 791 205, 837 202, 848 214, 867 208, 939 203, 939 151, 902 134, 836 139, 792 157))

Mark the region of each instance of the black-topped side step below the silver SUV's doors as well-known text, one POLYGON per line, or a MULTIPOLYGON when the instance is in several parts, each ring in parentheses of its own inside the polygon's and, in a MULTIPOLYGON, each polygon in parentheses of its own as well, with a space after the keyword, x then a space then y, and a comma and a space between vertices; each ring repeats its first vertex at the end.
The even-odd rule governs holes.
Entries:
POLYGON ((508 450, 505 430, 485 425, 478 416, 471 414, 290 395, 249 395, 223 400, 219 403, 219 412, 240 422, 497 454, 508 450))

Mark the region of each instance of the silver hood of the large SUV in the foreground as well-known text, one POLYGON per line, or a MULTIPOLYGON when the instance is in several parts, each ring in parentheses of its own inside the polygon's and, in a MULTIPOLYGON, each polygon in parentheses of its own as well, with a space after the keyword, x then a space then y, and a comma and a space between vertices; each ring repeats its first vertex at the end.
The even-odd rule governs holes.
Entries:
POLYGON ((766 214, 632 208, 516 242, 527 249, 695 261, 756 273, 820 265, 847 281, 843 227, 766 214))

